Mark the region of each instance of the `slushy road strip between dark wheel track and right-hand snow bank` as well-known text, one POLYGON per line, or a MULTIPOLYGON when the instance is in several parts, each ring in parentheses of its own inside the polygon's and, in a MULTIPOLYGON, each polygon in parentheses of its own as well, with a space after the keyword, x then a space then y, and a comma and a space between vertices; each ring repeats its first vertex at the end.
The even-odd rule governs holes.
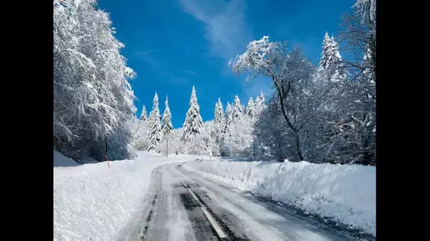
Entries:
POLYGON ((252 236, 252 240, 356 240, 344 233, 326 230, 320 225, 303 221, 284 211, 267 209, 267 203, 243 197, 233 187, 187 171, 182 166, 176 166, 175 169, 192 183, 199 183, 200 188, 207 190, 225 213, 236 216, 236 225, 252 236))

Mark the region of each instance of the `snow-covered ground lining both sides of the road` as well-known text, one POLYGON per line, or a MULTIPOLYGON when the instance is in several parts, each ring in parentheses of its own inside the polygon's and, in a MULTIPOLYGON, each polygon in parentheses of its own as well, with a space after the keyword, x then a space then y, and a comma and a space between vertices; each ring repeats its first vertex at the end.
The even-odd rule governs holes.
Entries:
POLYGON ((376 235, 374 167, 208 159, 138 152, 134 160, 110 161, 108 168, 106 162, 79 165, 54 151, 54 240, 114 240, 146 205, 153 169, 182 161, 204 177, 376 235))

